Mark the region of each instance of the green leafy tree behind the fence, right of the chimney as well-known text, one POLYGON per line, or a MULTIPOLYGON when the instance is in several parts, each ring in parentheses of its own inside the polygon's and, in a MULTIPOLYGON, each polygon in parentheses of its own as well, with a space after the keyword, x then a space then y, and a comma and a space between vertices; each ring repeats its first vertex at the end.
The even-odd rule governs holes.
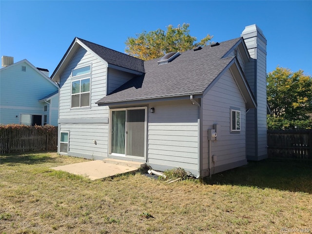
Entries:
POLYGON ((267 75, 269 129, 312 128, 312 77, 276 67, 267 75))

